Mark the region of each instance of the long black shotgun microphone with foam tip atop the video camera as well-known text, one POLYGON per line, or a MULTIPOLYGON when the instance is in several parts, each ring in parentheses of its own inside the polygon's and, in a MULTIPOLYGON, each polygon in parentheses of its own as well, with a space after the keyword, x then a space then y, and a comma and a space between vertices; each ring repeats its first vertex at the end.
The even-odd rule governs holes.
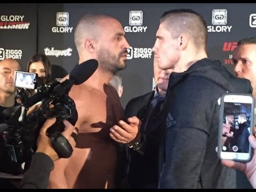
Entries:
POLYGON ((26 108, 33 106, 35 103, 41 101, 48 95, 51 98, 58 98, 61 95, 69 92, 71 86, 79 85, 84 83, 87 79, 89 79, 94 71, 98 68, 98 61, 95 59, 87 60, 73 68, 69 74, 69 79, 66 79, 64 82, 59 83, 50 83, 49 91, 46 92, 38 92, 32 97, 28 99, 27 104, 25 105, 26 108), (53 86, 52 86, 52 85, 53 86))

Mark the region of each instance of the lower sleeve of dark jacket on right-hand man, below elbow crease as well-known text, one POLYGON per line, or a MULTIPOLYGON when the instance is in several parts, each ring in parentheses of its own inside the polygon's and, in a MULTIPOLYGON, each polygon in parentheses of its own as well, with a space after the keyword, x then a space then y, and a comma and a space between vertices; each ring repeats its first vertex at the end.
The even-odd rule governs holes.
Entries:
POLYGON ((197 188, 207 134, 194 127, 175 127, 167 132, 167 137, 159 188, 197 188))

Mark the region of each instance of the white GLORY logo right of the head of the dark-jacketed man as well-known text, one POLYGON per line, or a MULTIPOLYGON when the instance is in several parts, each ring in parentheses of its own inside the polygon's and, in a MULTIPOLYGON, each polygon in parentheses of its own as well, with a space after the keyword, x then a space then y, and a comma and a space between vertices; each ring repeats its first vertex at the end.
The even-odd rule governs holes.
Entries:
POLYGON ((227 14, 226 9, 214 9, 212 10, 212 25, 207 26, 208 32, 230 32, 232 26, 227 26, 227 14))

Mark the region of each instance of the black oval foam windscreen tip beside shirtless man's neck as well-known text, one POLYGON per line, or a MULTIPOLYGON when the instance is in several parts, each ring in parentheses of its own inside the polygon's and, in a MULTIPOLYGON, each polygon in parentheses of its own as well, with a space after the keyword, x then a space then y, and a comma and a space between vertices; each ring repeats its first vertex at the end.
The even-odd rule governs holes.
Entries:
POLYGON ((75 85, 84 83, 89 79, 94 71, 98 68, 98 61, 95 59, 87 60, 71 70, 69 74, 70 81, 74 82, 75 85))

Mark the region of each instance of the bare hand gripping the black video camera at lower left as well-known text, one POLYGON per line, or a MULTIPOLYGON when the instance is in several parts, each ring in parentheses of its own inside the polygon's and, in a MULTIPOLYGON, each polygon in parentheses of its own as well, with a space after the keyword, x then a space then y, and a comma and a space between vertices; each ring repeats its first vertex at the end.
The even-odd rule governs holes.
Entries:
MULTIPOLYGON (((36 152, 41 152, 51 157, 52 161, 59 159, 59 157, 51 145, 50 138, 47 137, 46 135, 46 130, 51 125, 53 125, 55 121, 56 121, 56 118, 46 119, 45 123, 40 129, 39 137, 37 139, 37 150, 36 150, 36 152)), ((62 132, 62 135, 68 139, 70 144, 75 143, 74 138, 71 137, 71 134, 75 132, 75 127, 72 124, 70 124, 67 120, 64 120, 63 123, 66 126, 66 128, 65 128, 65 131, 62 132)), ((71 146, 74 148, 74 145, 71 145, 71 146)))

